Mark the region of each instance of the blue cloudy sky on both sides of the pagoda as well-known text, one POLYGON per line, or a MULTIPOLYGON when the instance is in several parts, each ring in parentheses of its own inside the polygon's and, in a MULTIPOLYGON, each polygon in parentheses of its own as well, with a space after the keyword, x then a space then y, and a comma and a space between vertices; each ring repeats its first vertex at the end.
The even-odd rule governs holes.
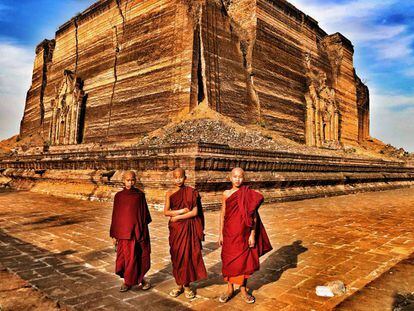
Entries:
MULTIPOLYGON (((0 0, 0 139, 19 131, 35 46, 93 2, 0 0)), ((414 152, 414 1, 290 2, 353 42, 355 67, 371 92, 371 135, 414 152)))

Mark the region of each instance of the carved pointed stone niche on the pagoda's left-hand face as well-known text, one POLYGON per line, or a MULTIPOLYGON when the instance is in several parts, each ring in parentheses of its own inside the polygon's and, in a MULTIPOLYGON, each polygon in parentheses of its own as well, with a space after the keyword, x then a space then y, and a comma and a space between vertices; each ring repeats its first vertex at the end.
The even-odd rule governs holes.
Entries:
POLYGON ((73 145, 81 143, 85 92, 83 81, 70 70, 63 72, 55 99, 51 102, 52 120, 49 139, 51 145, 73 145))

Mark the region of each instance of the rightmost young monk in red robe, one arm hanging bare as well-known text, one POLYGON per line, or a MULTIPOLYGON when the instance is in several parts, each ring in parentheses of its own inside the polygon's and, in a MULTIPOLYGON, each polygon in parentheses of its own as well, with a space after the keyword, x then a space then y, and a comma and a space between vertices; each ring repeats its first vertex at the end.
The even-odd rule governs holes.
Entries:
POLYGON ((272 250, 265 228, 258 213, 263 196, 242 185, 244 171, 231 171, 232 188, 223 193, 220 214, 219 244, 222 246, 222 272, 227 281, 227 291, 220 296, 220 302, 227 302, 234 293, 234 284, 246 303, 255 298, 247 292, 247 279, 259 270, 259 257, 272 250))

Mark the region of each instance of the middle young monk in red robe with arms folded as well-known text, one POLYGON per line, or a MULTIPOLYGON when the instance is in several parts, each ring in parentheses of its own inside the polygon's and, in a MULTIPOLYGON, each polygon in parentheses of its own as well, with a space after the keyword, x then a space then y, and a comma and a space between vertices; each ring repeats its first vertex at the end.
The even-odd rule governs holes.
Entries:
POLYGON ((169 243, 173 275, 178 288, 170 296, 183 292, 188 299, 195 297, 190 283, 207 277, 201 254, 204 239, 204 217, 198 192, 184 185, 186 176, 182 168, 173 172, 175 189, 167 192, 164 215, 170 217, 169 243))

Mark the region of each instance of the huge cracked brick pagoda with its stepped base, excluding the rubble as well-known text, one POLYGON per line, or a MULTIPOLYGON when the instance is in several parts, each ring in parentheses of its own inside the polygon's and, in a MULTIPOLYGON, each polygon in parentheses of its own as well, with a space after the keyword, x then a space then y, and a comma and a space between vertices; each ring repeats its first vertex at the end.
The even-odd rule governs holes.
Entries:
POLYGON ((123 169, 136 169, 155 204, 165 172, 180 165, 212 205, 234 165, 268 200, 412 185, 414 170, 403 162, 311 148, 115 147, 200 104, 303 145, 358 146, 369 138, 369 91, 353 53, 343 35, 326 34, 284 0, 98 1, 37 46, 20 138, 40 135, 45 146, 3 158, 2 178, 34 191, 53 183, 62 195, 106 198, 123 169))

